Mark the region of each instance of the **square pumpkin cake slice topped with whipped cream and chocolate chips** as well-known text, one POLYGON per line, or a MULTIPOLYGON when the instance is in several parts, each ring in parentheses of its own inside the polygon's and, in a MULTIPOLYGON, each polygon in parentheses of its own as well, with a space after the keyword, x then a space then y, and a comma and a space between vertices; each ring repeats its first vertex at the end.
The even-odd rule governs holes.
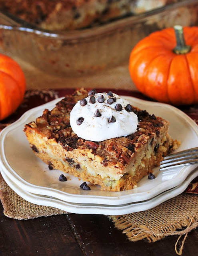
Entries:
POLYGON ((168 128, 167 120, 117 94, 81 88, 45 109, 24 132, 49 169, 98 184, 101 190, 120 191, 134 188, 178 148, 168 128))

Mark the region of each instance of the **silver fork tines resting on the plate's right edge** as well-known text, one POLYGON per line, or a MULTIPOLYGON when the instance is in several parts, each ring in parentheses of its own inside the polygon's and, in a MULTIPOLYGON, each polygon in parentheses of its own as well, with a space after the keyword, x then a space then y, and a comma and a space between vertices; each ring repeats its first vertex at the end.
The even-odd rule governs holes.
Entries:
POLYGON ((198 147, 189 148, 177 153, 170 154, 164 157, 160 162, 160 171, 180 165, 189 165, 198 163, 198 147))

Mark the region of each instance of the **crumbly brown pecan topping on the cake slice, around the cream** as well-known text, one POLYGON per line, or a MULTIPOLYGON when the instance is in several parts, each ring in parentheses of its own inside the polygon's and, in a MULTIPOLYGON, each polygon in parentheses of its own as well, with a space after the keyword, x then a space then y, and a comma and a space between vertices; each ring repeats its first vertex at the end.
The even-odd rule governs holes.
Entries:
MULTIPOLYGON (((112 138, 102 142, 93 142, 79 138, 70 126, 70 112, 76 102, 87 96, 88 92, 84 89, 75 92, 71 96, 66 96, 58 102, 51 111, 44 110, 43 115, 36 119, 36 122, 30 122, 28 126, 36 128, 39 133, 48 139, 55 139, 57 143, 67 151, 74 149, 90 150, 94 155, 103 159, 104 166, 113 164, 114 166, 125 166, 134 152, 146 144, 151 135, 160 135, 160 127, 167 123, 154 114, 148 114, 146 110, 139 110, 131 106, 132 111, 138 116, 138 128, 134 134, 126 137, 112 138)), ((153 143, 153 140, 150 141, 153 143)), ((154 146, 157 152, 159 145, 154 146)), ((35 148, 36 150, 36 148, 35 148)))

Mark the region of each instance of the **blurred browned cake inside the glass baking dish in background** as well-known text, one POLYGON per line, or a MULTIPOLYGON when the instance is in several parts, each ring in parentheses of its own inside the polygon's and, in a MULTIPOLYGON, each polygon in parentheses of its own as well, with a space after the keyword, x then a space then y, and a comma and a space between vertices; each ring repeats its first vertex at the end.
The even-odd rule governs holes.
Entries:
POLYGON ((0 0, 0 10, 47 30, 74 30, 179 0, 0 0))

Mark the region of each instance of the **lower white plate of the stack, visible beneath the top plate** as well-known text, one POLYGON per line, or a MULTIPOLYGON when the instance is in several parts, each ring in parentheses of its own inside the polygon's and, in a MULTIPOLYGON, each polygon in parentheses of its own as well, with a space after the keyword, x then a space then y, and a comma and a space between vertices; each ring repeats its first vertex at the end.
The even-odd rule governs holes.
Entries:
POLYGON ((12 188, 19 196, 25 200, 38 205, 52 206, 66 212, 78 213, 78 214, 105 214, 105 215, 122 215, 129 214, 132 212, 140 212, 151 209, 159 204, 165 202, 166 200, 178 196, 181 194, 188 186, 188 184, 198 176, 198 168, 196 168, 189 176, 184 180, 182 184, 162 192, 158 196, 146 201, 135 202, 130 204, 121 204, 121 205, 105 205, 105 204, 81 204, 81 203, 71 203, 60 200, 58 198, 53 198, 50 196, 43 196, 39 194, 33 194, 26 190, 23 190, 16 185, 12 180, 13 174, 10 178, 1 170, 1 174, 4 180, 7 182, 8 186, 12 188))

